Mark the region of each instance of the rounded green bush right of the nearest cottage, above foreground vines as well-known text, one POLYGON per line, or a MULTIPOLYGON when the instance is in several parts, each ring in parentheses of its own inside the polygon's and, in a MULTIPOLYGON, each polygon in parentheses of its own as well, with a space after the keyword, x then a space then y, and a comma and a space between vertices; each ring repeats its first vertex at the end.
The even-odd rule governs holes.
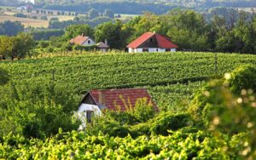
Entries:
POLYGON ((177 130, 189 126, 191 123, 188 113, 166 112, 160 114, 152 120, 152 134, 168 135, 168 130, 177 130))

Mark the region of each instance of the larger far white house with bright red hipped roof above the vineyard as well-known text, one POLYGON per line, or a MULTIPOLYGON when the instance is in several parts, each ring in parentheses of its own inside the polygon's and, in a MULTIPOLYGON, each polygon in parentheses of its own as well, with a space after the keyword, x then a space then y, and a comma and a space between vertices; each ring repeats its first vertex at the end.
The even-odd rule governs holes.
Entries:
POLYGON ((177 45, 171 39, 155 32, 145 32, 126 46, 129 53, 176 52, 177 45))

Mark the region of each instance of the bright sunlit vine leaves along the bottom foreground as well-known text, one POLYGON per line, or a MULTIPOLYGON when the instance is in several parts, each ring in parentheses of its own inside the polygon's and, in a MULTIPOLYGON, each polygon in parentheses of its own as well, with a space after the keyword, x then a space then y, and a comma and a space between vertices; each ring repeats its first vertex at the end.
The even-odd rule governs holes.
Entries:
MULTIPOLYGON (((174 132, 168 136, 140 136, 136 140, 131 136, 125 138, 109 137, 104 134, 89 136, 83 132, 61 133, 47 140, 26 140, 21 136, 4 136, 0 145, 0 157, 23 159, 229 159, 236 158, 236 150, 224 150, 230 144, 239 141, 225 136, 219 138, 204 134, 174 132), (232 156, 230 156, 232 155, 232 156)), ((241 142, 243 142, 241 140, 241 142)))

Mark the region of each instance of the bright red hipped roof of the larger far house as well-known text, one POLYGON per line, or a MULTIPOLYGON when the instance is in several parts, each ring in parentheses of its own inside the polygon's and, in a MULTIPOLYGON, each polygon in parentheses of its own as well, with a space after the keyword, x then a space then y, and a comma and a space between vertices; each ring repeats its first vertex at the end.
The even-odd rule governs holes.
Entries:
POLYGON ((138 37, 136 40, 128 44, 126 47, 131 49, 137 49, 141 44, 147 41, 150 37, 154 37, 157 40, 158 46, 161 49, 177 49, 177 45, 172 43, 172 41, 165 36, 158 33, 145 32, 142 36, 138 37))

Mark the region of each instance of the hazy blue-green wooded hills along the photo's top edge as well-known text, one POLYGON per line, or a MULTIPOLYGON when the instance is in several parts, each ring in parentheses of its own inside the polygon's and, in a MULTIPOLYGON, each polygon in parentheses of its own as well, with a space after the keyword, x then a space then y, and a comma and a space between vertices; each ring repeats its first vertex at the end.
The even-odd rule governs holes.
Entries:
POLYGON ((67 11, 78 11, 84 12, 90 9, 112 9, 114 13, 119 14, 142 14, 143 11, 150 11, 155 14, 165 14, 168 10, 173 8, 189 8, 189 9, 207 9, 212 7, 238 7, 238 8, 251 8, 256 6, 254 0, 166 0, 166 1, 91 1, 91 0, 80 0, 80 1, 40 1, 38 2, 40 7, 45 9, 58 9, 67 11))

